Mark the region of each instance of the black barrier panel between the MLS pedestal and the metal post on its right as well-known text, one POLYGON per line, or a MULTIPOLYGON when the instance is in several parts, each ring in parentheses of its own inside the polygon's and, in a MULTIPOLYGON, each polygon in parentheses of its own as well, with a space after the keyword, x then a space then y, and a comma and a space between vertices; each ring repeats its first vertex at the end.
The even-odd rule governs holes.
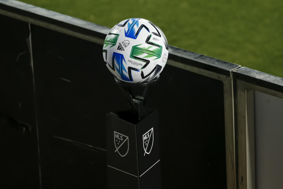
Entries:
POLYGON ((223 83, 165 66, 159 110, 162 188, 226 188, 223 83))

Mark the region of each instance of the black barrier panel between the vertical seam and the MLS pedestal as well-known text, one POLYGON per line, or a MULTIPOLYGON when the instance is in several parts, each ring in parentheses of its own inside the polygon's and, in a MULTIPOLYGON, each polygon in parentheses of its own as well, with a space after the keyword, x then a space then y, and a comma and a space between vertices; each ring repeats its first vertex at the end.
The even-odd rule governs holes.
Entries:
POLYGON ((127 101, 101 45, 35 25, 31 30, 43 188, 104 188, 106 113, 126 109, 127 101))

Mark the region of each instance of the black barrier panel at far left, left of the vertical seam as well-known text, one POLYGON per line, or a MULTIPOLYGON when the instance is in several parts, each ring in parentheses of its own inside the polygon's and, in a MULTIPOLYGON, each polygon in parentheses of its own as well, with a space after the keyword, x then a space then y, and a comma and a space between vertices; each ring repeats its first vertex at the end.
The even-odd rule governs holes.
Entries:
POLYGON ((0 15, 0 188, 39 188, 29 24, 0 15))

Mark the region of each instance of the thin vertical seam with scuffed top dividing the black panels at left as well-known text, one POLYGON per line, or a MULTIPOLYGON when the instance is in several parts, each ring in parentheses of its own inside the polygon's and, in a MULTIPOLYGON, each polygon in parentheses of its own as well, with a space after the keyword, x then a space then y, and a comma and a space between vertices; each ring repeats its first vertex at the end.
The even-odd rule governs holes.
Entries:
POLYGON ((33 78, 33 92, 34 92, 34 110, 35 110, 35 121, 36 121, 36 131, 37 131, 37 149, 38 149, 38 169, 39 169, 39 183, 40 189, 42 189, 42 180, 41 180, 41 161, 40 161, 40 146, 39 146, 39 131, 38 131, 38 121, 37 121, 37 100, 35 93, 35 79, 34 79, 34 67, 33 67, 33 56, 32 56, 32 32, 31 25, 29 23, 29 53, 30 53, 30 66, 32 69, 32 78, 33 78))

